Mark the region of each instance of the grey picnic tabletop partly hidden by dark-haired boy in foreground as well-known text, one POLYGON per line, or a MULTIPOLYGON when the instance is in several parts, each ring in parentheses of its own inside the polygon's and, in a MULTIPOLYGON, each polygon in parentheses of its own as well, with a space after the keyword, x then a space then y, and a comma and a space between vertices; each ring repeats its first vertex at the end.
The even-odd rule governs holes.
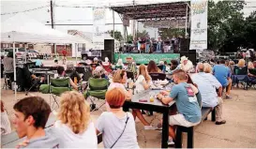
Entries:
MULTIPOLYGON (((56 120, 55 116, 49 117, 45 125, 45 130, 48 130, 50 127, 53 127, 55 120, 56 120)), ((20 139, 16 131, 12 131, 11 133, 1 137, 2 137, 1 139, 2 148, 15 148, 15 146, 19 142, 23 142, 23 140, 25 139, 25 137, 20 139)))

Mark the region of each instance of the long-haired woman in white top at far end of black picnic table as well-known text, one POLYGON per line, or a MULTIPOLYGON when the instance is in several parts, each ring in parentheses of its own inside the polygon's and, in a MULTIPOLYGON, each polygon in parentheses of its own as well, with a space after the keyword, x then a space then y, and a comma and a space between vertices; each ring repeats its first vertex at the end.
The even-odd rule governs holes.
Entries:
POLYGON ((144 65, 140 65, 138 74, 138 79, 135 82, 135 93, 140 93, 149 89, 151 83, 151 77, 148 75, 144 65))

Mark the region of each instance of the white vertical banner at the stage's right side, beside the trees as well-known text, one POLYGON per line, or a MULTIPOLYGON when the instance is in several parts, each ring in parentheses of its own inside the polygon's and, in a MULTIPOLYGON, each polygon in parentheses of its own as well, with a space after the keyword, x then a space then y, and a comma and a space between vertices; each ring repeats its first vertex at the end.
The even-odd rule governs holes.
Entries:
POLYGON ((189 50, 207 49, 207 14, 206 0, 191 0, 191 34, 189 50))

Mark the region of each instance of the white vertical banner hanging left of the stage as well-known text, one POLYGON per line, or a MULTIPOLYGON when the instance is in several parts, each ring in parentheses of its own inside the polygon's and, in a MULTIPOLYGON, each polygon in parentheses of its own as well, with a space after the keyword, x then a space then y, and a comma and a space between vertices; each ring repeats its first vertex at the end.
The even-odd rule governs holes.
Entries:
POLYGON ((94 7, 93 14, 93 49, 104 50, 106 9, 94 7))

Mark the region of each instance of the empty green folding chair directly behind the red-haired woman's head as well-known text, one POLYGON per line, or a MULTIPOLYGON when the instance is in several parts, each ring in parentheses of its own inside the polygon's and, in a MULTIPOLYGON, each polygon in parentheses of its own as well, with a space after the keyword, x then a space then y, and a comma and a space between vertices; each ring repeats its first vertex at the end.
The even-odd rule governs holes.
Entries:
MULTIPOLYGON (((109 81, 106 79, 94 79, 90 78, 88 81, 89 89, 87 89, 83 96, 85 99, 89 98, 92 102, 91 112, 100 110, 100 108, 105 104, 105 95, 108 90, 109 81), (103 102, 99 103, 98 105, 95 103, 93 97, 98 98, 98 100, 103 100, 103 102)), ((102 111, 103 112, 103 111, 102 111)))

